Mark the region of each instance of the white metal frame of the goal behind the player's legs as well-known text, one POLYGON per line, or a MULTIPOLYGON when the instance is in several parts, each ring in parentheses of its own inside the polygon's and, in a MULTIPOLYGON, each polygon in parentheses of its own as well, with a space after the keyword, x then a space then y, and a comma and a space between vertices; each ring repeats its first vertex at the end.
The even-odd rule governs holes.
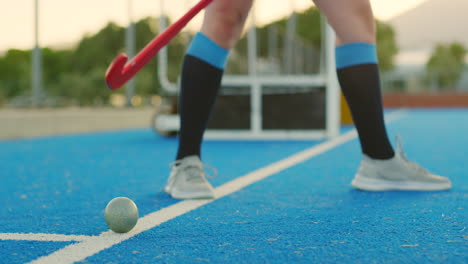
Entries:
MULTIPOLYGON (((161 1, 163 5, 164 1, 161 1)), ((161 6, 163 10, 163 6, 161 6)), ((208 129, 205 133, 207 139, 323 139, 339 135, 340 131, 340 93, 335 73, 335 34, 326 24, 323 36, 324 62, 319 74, 312 75, 261 75, 257 73, 257 39, 254 26, 255 17, 251 14, 252 27, 247 33, 248 39, 248 75, 225 75, 223 85, 229 87, 250 87, 251 89, 251 117, 250 129, 245 130, 218 130, 208 129), (262 129, 262 89, 267 85, 294 85, 296 87, 324 86, 326 87, 326 122, 325 129, 288 129, 264 130, 262 129)), ((162 17, 162 16, 161 16, 162 17)), ((165 28, 164 19, 160 19, 160 28, 165 28)), ((161 50, 158 56, 158 74, 163 89, 169 93, 177 93, 177 84, 167 78, 167 48, 161 50)), ((167 128, 178 130, 178 116, 164 116, 155 120, 156 125, 165 125, 167 128), (162 123, 165 124, 162 124, 162 123)))

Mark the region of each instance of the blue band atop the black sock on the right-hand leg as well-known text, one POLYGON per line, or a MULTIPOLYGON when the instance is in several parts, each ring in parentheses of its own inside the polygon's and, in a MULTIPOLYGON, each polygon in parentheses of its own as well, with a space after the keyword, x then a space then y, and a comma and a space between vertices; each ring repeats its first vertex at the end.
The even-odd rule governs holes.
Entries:
POLYGON ((355 42, 336 47, 336 68, 342 69, 360 64, 377 64, 375 44, 355 42))

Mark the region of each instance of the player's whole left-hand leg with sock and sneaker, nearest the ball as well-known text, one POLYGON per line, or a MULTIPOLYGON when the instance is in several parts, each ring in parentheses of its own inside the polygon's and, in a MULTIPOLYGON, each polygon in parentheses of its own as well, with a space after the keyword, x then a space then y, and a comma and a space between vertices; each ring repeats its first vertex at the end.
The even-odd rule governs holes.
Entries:
POLYGON ((239 40, 252 0, 216 0, 187 50, 179 96, 176 165, 165 187, 174 198, 212 198, 200 161, 203 134, 215 103, 230 49, 239 40), (194 177, 195 176, 195 177, 194 177))

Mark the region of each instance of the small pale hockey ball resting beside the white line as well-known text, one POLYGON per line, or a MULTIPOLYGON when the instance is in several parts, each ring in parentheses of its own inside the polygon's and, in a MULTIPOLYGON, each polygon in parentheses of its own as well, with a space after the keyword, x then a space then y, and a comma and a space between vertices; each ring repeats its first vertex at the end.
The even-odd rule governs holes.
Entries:
POLYGON ((107 226, 116 233, 127 233, 138 221, 138 208, 127 197, 112 199, 104 211, 107 226))

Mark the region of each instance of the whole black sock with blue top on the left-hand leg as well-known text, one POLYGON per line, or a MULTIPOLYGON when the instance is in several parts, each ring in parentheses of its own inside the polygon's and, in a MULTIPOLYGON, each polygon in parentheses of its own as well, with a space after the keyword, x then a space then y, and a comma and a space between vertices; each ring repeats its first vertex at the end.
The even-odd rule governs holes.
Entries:
POLYGON ((179 96, 179 148, 176 159, 197 155, 216 101, 229 50, 202 33, 195 35, 184 58, 179 96))

